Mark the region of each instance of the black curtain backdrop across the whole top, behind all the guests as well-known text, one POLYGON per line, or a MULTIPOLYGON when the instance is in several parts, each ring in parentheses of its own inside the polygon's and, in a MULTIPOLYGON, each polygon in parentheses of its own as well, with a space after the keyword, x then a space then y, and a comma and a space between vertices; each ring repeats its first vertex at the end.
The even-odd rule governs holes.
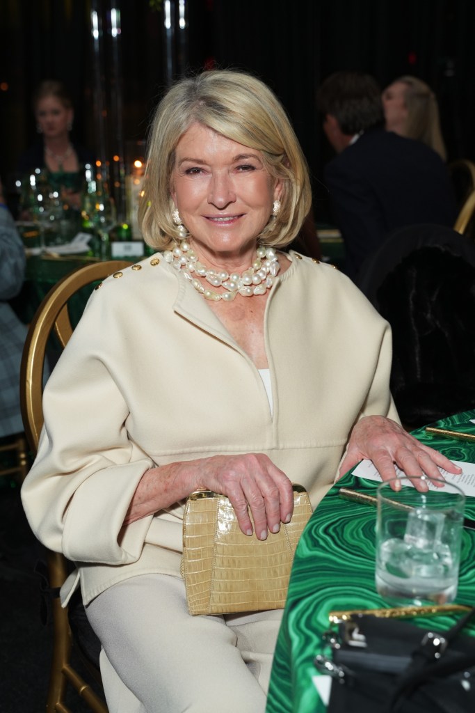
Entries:
MULTIPOLYGON (((93 0, 1 0, 0 175, 35 138, 31 93, 38 81, 65 81, 75 103, 73 135, 95 148, 93 0)), ((110 0, 97 0, 106 9, 110 0)), ((148 0, 118 0, 124 137, 145 138, 167 84, 162 11, 148 0)), ((449 160, 475 160, 475 2, 473 0, 188 0, 187 50, 176 72, 243 68, 278 94, 313 177, 315 210, 332 152, 320 128, 315 90, 333 71, 372 73, 381 86, 410 73, 439 98, 449 160)))

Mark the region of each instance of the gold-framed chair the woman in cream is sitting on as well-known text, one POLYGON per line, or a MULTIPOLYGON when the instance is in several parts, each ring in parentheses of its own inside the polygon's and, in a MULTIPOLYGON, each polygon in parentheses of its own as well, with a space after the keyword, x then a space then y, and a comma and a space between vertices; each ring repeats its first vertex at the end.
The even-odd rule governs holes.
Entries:
MULTIPOLYGON (((48 292, 38 307, 28 330, 21 362, 21 413, 26 437, 33 453, 36 453, 38 448, 43 426, 43 365, 51 333, 55 332, 61 347, 64 348, 73 334, 68 312, 68 300, 83 287, 105 279, 130 264, 130 262, 122 260, 111 260, 80 267, 63 277, 48 292)), ((51 550, 47 550, 46 555, 49 588, 53 592, 58 592, 69 573, 68 560, 60 553, 51 552, 51 550)), ((80 606, 82 607, 82 602, 80 602, 80 606)), ((94 713, 108 713, 105 702, 71 665, 73 635, 68 619, 68 610, 61 607, 58 595, 53 597, 52 614, 53 660, 46 711, 48 713, 71 713, 65 702, 67 684, 71 684, 94 713)), ((92 633, 92 629, 90 632, 92 633)), ((80 647, 78 648, 80 652, 80 647)), ((92 672, 96 680, 100 681, 98 669, 95 669, 88 661, 83 660, 83 662, 88 672, 92 672)))

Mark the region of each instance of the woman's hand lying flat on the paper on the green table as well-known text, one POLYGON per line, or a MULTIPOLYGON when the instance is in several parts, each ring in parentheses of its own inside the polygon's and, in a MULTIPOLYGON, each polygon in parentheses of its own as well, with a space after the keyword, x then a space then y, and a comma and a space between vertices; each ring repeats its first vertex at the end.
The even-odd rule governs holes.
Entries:
MULTIPOLYGON (((439 468, 449 473, 459 474, 461 468, 442 456, 434 448, 424 446, 417 438, 404 431, 402 426, 384 416, 365 416, 353 427, 348 443, 348 450, 340 466, 338 477, 347 473, 362 458, 375 464, 383 481, 395 478, 395 464, 407 476, 426 475, 431 480, 441 479, 439 468)), ((439 483, 434 483, 436 486, 439 483)), ((416 483, 416 487, 419 483, 416 483)), ((419 489, 427 489, 422 483, 419 489)))

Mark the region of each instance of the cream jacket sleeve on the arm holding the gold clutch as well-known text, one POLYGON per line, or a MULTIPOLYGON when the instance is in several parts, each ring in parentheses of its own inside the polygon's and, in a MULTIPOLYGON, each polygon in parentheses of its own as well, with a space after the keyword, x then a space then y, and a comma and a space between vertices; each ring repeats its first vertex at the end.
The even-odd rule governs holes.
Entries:
POLYGON ((122 523, 154 463, 127 433, 114 319, 107 329, 98 309, 88 303, 46 384, 38 455, 21 496, 46 547, 76 562, 120 565, 139 558, 150 526, 152 515, 122 523))

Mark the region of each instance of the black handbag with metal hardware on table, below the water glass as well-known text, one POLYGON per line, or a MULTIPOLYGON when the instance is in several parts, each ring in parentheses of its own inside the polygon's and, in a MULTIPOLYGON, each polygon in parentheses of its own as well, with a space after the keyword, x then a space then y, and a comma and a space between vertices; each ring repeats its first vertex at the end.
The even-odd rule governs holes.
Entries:
POLYGON ((460 633, 474 614, 447 632, 372 615, 340 624, 332 656, 315 657, 333 677, 328 713, 472 713, 475 637, 460 633))

